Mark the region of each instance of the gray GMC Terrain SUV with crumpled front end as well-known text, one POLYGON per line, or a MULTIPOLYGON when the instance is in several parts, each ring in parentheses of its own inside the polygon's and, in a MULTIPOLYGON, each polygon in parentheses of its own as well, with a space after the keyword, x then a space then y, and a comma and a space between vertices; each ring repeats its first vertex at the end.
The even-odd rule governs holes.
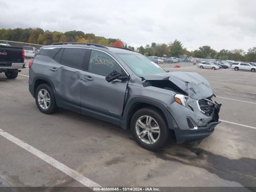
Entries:
POLYGON ((29 64, 29 90, 45 114, 66 108, 130 129, 158 150, 170 138, 200 143, 220 122, 221 104, 193 72, 166 72, 145 56, 99 44, 55 43, 29 64))

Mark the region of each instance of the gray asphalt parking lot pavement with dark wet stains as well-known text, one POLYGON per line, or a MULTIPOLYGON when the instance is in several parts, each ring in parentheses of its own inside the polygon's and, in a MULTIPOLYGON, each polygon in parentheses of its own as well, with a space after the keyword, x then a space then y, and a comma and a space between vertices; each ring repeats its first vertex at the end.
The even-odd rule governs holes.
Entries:
POLYGON ((222 104, 222 123, 198 146, 171 140, 150 152, 114 124, 64 109, 42 114, 28 68, 14 80, 0 74, 0 129, 10 138, 0 134, 0 186, 256 186, 256 73, 167 70, 198 72, 222 104))

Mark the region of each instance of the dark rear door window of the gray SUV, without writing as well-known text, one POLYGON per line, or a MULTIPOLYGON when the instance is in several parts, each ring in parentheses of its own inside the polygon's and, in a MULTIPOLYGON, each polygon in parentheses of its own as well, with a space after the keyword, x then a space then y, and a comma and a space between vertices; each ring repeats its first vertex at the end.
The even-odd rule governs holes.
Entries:
POLYGON ((64 48, 61 64, 82 69, 87 51, 89 50, 83 48, 64 48))

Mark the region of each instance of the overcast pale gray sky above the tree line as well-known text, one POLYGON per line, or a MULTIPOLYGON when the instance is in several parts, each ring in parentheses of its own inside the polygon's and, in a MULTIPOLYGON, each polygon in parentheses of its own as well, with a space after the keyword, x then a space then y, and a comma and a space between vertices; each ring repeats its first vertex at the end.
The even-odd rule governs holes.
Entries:
POLYGON ((81 30, 131 46, 256 46, 255 0, 0 0, 0 28, 81 30))

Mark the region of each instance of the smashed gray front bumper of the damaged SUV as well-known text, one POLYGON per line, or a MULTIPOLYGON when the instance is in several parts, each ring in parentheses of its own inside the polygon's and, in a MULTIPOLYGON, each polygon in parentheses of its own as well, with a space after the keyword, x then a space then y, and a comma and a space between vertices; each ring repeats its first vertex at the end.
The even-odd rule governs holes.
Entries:
MULTIPOLYGON (((206 99, 207 102, 208 99, 206 99)), ((174 118, 175 125, 173 130, 178 144, 184 142, 197 142, 206 138, 214 132, 214 128, 220 122, 218 113, 220 112, 221 104, 212 102, 212 110, 202 108, 204 103, 199 103, 201 100, 193 100, 187 107, 184 107, 176 102, 167 107, 170 114, 174 118)))

